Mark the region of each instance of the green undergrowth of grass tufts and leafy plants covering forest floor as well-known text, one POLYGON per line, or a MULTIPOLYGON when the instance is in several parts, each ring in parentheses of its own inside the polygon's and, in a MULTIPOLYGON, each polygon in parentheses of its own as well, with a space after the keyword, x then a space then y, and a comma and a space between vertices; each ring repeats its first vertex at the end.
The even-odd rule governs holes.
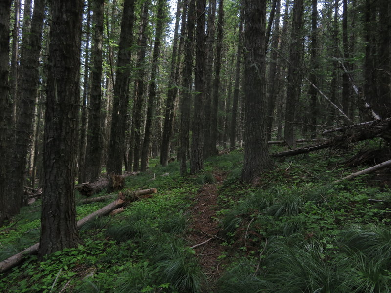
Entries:
MULTIPOLYGON (((76 248, 26 257, 0 275, 0 292, 387 293, 389 188, 369 185, 371 174, 332 184, 366 167, 344 167, 354 151, 275 160, 257 186, 239 182, 242 150, 209 158, 203 172, 187 177, 178 162, 161 167, 152 159, 125 188, 157 194, 87 223, 76 248), (210 207, 220 230, 215 278, 187 240, 197 192, 208 184, 218 192, 210 207)), ((78 219, 110 201, 78 203, 78 219)), ((38 242, 39 205, 0 228, 1 259, 38 242)))

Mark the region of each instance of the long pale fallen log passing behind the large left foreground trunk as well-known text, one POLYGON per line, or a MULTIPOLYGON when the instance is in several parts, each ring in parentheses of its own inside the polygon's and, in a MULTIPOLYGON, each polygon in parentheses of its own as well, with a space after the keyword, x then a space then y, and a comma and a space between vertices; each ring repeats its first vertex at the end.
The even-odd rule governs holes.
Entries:
MULTIPOLYGON (((152 189, 146 189, 152 191, 151 193, 156 193, 157 189, 152 188, 152 189)), ((140 196, 147 194, 146 190, 140 190, 142 191, 140 196)), ((118 198, 110 203, 109 205, 103 207, 102 209, 98 209, 97 211, 94 211, 93 213, 89 214, 88 216, 84 217, 83 219, 77 221, 77 227, 80 229, 84 224, 86 224, 88 221, 91 221, 95 218, 105 216, 109 214, 113 210, 117 210, 116 213, 120 212, 119 208, 123 207, 127 202, 129 201, 134 201, 135 200, 135 195, 136 192, 129 192, 128 196, 125 193, 119 193, 118 198), (128 198, 129 197, 129 198, 128 198)), ((149 193, 149 194, 151 194, 149 193)), ((33 246, 30 246, 29 248, 26 248, 25 250, 7 258, 6 260, 3 260, 0 262, 0 273, 6 272, 13 267, 17 266, 20 264, 23 260, 23 256, 27 254, 35 254, 38 252, 39 249, 39 242, 34 244, 33 246)))

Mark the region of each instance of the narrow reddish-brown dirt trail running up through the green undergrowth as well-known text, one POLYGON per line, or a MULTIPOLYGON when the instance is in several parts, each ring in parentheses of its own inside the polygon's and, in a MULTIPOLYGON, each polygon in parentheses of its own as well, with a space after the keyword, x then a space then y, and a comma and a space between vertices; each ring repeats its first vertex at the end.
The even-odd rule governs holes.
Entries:
POLYGON ((203 272, 208 276, 208 283, 212 284, 220 277, 221 260, 218 257, 224 251, 221 243, 224 242, 218 234, 218 220, 216 216, 218 186, 222 184, 225 174, 214 174, 216 183, 204 184, 195 196, 193 207, 190 208, 192 223, 188 241, 192 244, 198 256, 203 272))

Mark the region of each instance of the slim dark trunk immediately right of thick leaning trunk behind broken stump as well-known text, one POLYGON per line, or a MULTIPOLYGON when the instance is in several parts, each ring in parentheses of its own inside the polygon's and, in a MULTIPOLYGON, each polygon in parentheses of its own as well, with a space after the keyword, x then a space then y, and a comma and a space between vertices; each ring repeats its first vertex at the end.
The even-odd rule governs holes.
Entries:
POLYGON ((145 78, 145 55, 147 52, 147 24, 148 24, 148 9, 149 0, 144 1, 142 8, 142 18, 139 32, 139 46, 140 51, 138 53, 136 68, 137 79, 134 82, 134 103, 133 103, 133 116, 132 116, 132 128, 133 133, 130 142, 130 152, 128 155, 129 161, 133 160, 133 170, 140 170, 140 152, 141 152, 141 140, 142 140, 142 113, 143 113, 143 95, 144 95, 144 78, 145 78))

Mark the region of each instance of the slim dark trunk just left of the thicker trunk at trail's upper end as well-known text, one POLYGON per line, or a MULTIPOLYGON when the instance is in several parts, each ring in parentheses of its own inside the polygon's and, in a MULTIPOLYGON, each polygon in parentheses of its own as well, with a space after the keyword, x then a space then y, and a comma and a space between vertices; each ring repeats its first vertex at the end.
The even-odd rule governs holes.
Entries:
POLYGON ((179 129, 179 173, 187 174, 186 158, 189 146, 190 131, 190 107, 193 69, 193 45, 195 28, 195 0, 189 0, 189 12, 187 17, 187 40, 185 46, 185 67, 183 69, 182 95, 180 99, 180 129, 179 129))

